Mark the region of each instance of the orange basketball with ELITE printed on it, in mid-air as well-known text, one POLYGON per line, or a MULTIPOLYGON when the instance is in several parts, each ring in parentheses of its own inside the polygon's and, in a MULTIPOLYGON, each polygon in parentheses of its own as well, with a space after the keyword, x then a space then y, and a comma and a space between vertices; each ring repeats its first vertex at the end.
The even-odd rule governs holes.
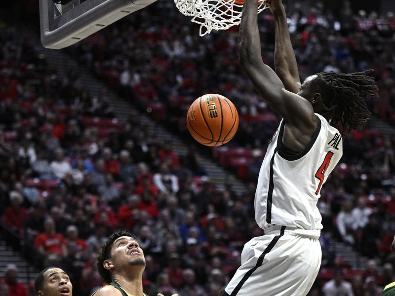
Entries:
POLYGON ((221 146, 235 136, 238 114, 235 105, 224 96, 206 94, 195 100, 187 113, 192 137, 206 146, 221 146))

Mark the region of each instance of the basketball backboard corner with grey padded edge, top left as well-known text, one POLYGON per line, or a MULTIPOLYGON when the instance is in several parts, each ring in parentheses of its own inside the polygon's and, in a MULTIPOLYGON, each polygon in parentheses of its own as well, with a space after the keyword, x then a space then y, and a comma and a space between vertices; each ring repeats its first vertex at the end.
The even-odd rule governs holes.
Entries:
POLYGON ((156 0, 40 0, 41 43, 61 49, 156 0))

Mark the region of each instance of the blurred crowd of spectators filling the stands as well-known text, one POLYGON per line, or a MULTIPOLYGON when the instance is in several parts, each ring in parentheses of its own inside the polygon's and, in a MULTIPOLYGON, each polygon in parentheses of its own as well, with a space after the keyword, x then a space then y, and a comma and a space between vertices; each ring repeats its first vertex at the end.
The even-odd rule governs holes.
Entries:
MULTIPOLYGON (((344 3, 341 15, 324 11, 319 2, 308 12, 298 3, 288 7, 301 78, 323 70, 373 68, 381 100, 368 101, 369 108, 395 125, 395 60, 389 46, 394 16, 355 15, 344 3)), ((262 13, 259 23, 264 58, 272 65, 273 18, 262 13)), ((191 145, 187 156, 177 155, 170 143, 148 134, 138 113, 120 123, 105 89, 91 96, 77 72, 59 76, 32 40, 21 39, 12 27, 1 31, 1 222, 35 247, 35 264, 67 270, 75 295, 90 295, 102 285, 96 252, 117 228, 135 233, 145 252, 145 292, 165 296, 217 296, 240 264, 244 242, 262 234, 252 203, 256 172, 279 118, 242 73, 235 32, 199 37, 198 27, 172 2, 158 1, 67 51, 183 137, 193 100, 205 93, 230 98, 240 115, 239 130, 225 148, 211 151, 220 163, 236 158, 240 149, 248 151, 248 161, 236 171, 247 188, 241 195, 229 184, 220 190, 205 177, 199 148, 191 145)), ((348 295, 373 296, 395 280, 390 250, 394 147, 395 137, 369 129, 345 139, 342 163, 318 202, 323 261, 311 295, 333 295, 340 283, 348 295), (366 270, 351 270, 333 252, 334 241, 367 256, 366 270)), ((232 169, 232 163, 224 165, 232 169)), ((9 267, 0 291, 13 291, 12 270, 16 272, 9 267)))

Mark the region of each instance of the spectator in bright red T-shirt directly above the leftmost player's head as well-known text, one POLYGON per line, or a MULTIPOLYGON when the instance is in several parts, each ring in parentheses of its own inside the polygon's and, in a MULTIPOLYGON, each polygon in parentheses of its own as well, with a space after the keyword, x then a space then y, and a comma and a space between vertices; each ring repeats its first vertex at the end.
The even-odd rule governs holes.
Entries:
POLYGON ((41 254, 65 254, 63 235, 55 231, 55 222, 47 218, 44 222, 44 232, 36 236, 34 246, 41 254))

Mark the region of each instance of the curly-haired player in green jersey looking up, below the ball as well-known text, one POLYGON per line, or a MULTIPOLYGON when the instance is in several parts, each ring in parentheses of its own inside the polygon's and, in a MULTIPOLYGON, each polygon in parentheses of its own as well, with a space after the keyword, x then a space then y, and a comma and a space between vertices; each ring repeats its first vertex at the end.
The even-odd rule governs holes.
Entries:
POLYGON ((130 232, 118 230, 110 235, 100 249, 96 265, 108 285, 92 296, 148 296, 143 293, 144 252, 130 232))

